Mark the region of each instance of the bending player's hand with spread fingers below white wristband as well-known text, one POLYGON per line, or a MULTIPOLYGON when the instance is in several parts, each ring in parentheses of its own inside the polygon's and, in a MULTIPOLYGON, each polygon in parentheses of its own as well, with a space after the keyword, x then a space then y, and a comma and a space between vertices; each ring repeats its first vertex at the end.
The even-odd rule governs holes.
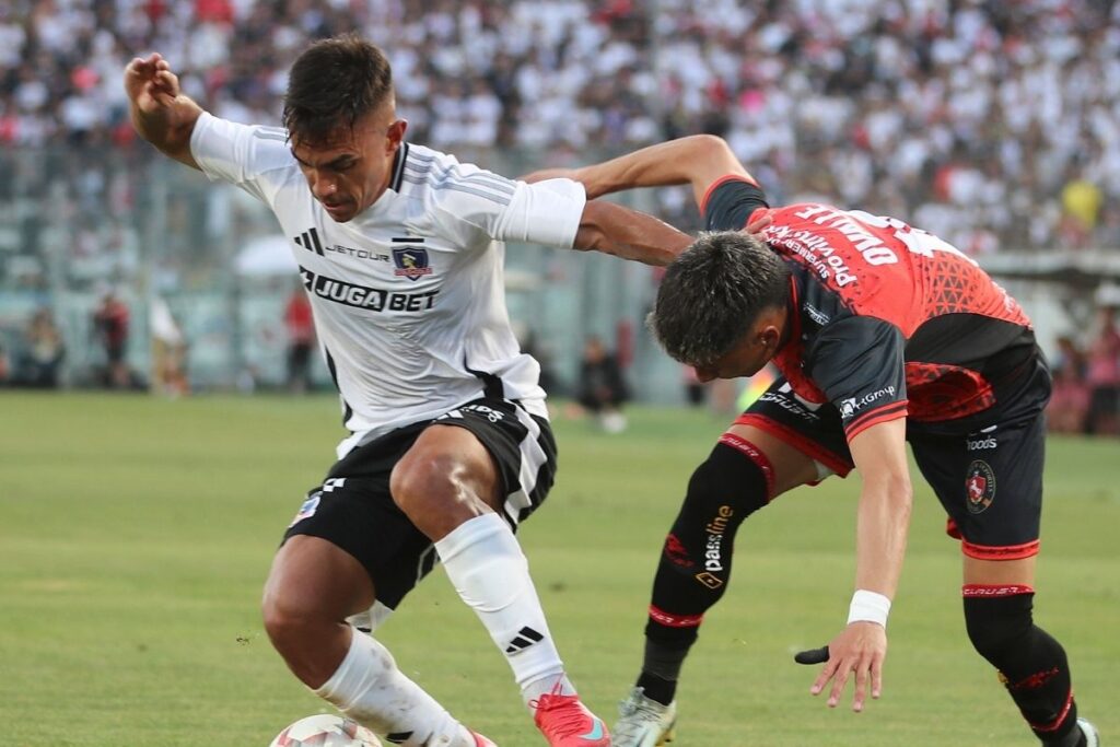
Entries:
POLYGON ((851 623, 828 645, 828 661, 809 692, 819 695, 829 681, 828 706, 836 708, 848 679, 856 675, 856 692, 851 709, 864 710, 864 702, 870 689, 871 698, 883 692, 883 661, 887 656, 887 631, 878 623, 851 623))

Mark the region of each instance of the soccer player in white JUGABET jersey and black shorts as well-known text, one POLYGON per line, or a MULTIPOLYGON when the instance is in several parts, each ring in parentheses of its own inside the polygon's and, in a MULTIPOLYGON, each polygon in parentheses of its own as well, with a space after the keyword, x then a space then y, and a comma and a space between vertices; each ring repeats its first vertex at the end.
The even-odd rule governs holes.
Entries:
POLYGON ((688 243, 655 218, 529 185, 404 140, 390 66, 356 37, 295 62, 284 129, 221 120, 152 54, 124 71, 137 131, 237 185, 291 241, 351 436, 284 534, 264 627, 291 671, 398 745, 492 745, 372 635, 437 560, 505 654, 552 746, 609 745, 564 674, 513 530, 556 469, 540 367, 504 305, 503 241, 668 263, 688 243))

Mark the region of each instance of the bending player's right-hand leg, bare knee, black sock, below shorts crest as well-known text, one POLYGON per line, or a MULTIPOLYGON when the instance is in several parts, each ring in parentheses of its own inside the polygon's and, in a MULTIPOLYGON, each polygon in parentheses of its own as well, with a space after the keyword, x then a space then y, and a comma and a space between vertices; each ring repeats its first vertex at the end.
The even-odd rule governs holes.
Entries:
POLYGON ((1095 728, 1077 718, 1065 651, 1034 624, 1035 555, 965 555, 963 577, 969 638, 999 671, 1035 736, 1049 747, 1096 747, 1095 728))

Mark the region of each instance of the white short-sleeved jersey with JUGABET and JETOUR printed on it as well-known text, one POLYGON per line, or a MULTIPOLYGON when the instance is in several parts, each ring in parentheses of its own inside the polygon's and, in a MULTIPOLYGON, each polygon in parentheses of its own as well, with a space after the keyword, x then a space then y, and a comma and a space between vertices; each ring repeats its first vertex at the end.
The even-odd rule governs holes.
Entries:
POLYGON ((190 138, 212 180, 272 208, 311 299, 355 446, 483 395, 547 415, 540 366, 505 308, 505 240, 571 248, 582 185, 529 185, 402 143, 389 189, 348 223, 311 195, 284 130, 204 113, 190 138))

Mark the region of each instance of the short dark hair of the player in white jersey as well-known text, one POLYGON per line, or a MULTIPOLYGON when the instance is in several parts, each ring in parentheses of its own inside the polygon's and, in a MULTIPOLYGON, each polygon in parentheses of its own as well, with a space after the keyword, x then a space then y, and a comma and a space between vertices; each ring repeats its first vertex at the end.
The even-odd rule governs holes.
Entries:
POLYGON ((393 95, 389 59, 356 34, 320 39, 291 66, 283 125, 293 142, 321 143, 393 95))

